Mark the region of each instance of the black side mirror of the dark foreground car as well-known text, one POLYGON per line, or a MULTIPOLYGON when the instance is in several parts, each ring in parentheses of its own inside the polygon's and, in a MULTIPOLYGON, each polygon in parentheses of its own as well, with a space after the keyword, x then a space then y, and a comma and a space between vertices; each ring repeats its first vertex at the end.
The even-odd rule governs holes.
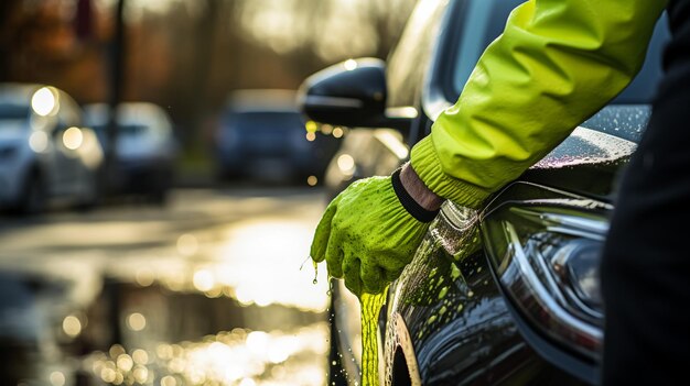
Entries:
POLYGON ((408 130, 411 119, 386 115, 386 64, 349 59, 306 78, 298 104, 309 119, 335 125, 408 130))

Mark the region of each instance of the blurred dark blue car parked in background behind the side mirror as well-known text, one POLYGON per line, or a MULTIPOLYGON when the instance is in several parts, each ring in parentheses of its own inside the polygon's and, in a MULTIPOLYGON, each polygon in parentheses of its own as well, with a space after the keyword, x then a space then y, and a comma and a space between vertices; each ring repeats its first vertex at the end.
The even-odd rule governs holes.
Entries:
POLYGON ((308 131, 294 97, 291 90, 231 95, 215 136, 219 179, 316 184, 338 141, 308 131))

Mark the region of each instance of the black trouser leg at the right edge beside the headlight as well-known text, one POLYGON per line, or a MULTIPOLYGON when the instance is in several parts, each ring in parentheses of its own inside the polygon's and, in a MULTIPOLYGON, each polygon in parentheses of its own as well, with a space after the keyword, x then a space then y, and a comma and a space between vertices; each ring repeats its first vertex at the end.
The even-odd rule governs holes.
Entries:
POLYGON ((690 384, 690 51, 672 59, 604 249, 604 385, 690 384))

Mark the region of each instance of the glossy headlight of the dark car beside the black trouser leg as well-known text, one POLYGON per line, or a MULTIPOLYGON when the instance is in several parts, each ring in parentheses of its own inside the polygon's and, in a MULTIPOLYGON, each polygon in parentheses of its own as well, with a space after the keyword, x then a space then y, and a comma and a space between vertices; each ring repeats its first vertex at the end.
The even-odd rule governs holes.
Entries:
POLYGON ((600 254, 611 206, 581 198, 510 201, 482 233, 509 300, 536 331, 599 362, 603 344, 600 254))

